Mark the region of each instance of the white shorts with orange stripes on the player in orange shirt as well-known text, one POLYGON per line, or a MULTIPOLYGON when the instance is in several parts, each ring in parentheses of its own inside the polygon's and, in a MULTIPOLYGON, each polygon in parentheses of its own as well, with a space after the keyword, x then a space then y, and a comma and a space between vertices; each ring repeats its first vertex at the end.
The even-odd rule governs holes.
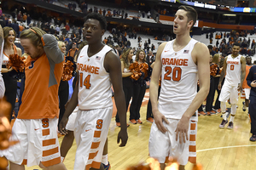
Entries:
POLYGON ((20 143, 3 150, 3 155, 19 165, 45 167, 61 163, 57 135, 58 118, 16 119, 12 128, 12 140, 20 143))

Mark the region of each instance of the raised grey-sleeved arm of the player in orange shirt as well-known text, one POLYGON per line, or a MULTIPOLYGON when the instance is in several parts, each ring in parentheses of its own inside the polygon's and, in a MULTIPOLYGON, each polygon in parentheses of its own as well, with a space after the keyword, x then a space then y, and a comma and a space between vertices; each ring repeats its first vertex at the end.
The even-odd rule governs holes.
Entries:
POLYGON ((61 63, 64 60, 64 55, 62 54, 54 35, 44 34, 42 42, 45 54, 49 59, 53 60, 55 64, 61 63))

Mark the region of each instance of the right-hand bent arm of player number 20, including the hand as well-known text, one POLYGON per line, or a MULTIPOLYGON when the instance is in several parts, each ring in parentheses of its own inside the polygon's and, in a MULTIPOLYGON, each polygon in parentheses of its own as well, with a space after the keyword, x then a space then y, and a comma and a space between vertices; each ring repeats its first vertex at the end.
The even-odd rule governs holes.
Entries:
POLYGON ((196 43, 191 55, 195 55, 196 65, 198 68, 200 90, 195 95, 195 98, 192 100, 189 108, 183 113, 180 121, 177 123, 177 128, 175 131, 176 140, 179 138, 180 143, 182 143, 182 141, 185 143, 186 139, 189 139, 189 119, 195 114, 195 111, 199 108, 204 99, 206 99, 210 88, 210 54, 207 46, 201 42, 196 43))

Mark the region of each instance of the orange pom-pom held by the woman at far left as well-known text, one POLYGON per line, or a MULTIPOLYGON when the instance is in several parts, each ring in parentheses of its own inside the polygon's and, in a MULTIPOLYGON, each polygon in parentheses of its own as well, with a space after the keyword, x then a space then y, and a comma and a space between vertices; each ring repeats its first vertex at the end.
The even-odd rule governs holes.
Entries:
POLYGON ((18 54, 10 54, 7 68, 9 69, 12 67, 17 72, 24 72, 25 60, 25 57, 20 57, 18 54))

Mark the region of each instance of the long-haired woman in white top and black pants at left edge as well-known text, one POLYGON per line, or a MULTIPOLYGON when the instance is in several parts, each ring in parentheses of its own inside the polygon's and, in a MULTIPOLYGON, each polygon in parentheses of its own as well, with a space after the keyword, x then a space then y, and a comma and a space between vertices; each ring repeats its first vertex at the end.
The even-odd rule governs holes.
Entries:
POLYGON ((3 81, 5 85, 4 97, 12 105, 12 110, 10 112, 10 118, 15 109, 15 101, 17 94, 17 80, 14 77, 11 77, 12 68, 6 68, 6 65, 9 63, 9 55, 18 54, 21 56, 21 49, 15 46, 15 37, 16 32, 13 28, 9 26, 3 27, 3 63, 2 63, 2 74, 3 81))

